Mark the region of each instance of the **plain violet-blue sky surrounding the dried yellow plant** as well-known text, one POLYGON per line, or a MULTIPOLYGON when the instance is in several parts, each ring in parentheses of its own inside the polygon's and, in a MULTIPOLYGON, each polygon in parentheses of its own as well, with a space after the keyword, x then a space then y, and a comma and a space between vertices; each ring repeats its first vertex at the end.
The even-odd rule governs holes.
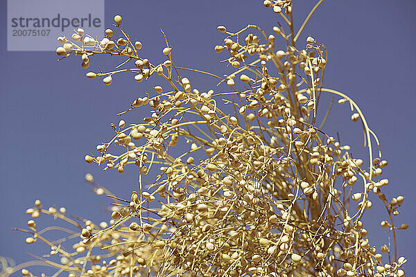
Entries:
MULTIPOLYGON (((296 29, 314 3, 294 1, 296 29)), ((312 35, 327 46, 325 87, 352 96, 379 136, 383 159, 388 160, 383 177, 390 179, 383 192, 390 197, 405 196, 396 222, 410 225, 398 237, 398 253, 409 260, 407 276, 416 273, 412 255, 416 247, 415 7, 416 2, 410 0, 327 0, 298 39, 298 45, 303 45, 312 35)), ((91 172, 99 184, 121 197, 137 188, 135 168, 123 175, 103 172, 87 165, 84 156, 110 139, 110 123, 120 119, 117 112, 153 86, 137 84, 128 74, 114 78, 111 86, 85 78, 98 65, 112 69, 116 65, 113 59, 94 57, 85 70, 78 59, 57 62, 53 52, 8 52, 6 0, 0 0, 0 13, 0 256, 19 263, 31 260, 28 252, 49 252, 43 246, 25 244, 26 235, 12 231, 13 227, 26 228, 29 217, 24 212, 35 199, 41 199, 44 206, 65 206, 69 214, 100 222, 109 219, 103 212, 108 201, 90 193, 85 173, 91 172)), ((123 15, 125 30, 144 44, 142 55, 151 61, 164 60, 162 28, 174 47, 177 65, 218 75, 230 69, 219 64, 225 56, 214 53, 214 46, 223 40, 216 26, 239 30, 250 23, 272 33, 272 26, 281 21, 263 8, 262 1, 253 0, 105 1, 106 27, 115 14, 123 15)), ((284 46, 277 41, 277 47, 279 43, 284 46)), ((200 91, 217 89, 212 78, 189 76, 200 91)), ((327 102, 331 99, 322 97, 327 102)), ((350 116, 347 105, 334 104, 324 130, 333 135, 338 132, 341 143, 352 146, 354 157, 367 161, 361 124, 351 123, 350 116)), ((141 117, 137 111, 132 114, 132 118, 141 117)), ((378 198, 372 195, 372 199, 374 208, 365 213, 364 224, 370 244, 379 251, 388 242, 386 230, 379 225, 387 214, 376 204, 378 198)), ((38 225, 45 227, 46 222, 40 220, 38 225)))

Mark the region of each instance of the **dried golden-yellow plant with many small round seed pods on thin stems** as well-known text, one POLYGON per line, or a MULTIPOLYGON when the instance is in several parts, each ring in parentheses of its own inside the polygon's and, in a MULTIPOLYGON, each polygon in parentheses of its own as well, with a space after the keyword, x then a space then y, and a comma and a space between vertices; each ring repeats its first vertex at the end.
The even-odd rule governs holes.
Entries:
POLYGON ((379 141, 351 98, 323 86, 324 45, 313 37, 297 42, 320 3, 297 32, 288 0, 263 2, 285 22, 272 28, 273 35, 255 25, 236 33, 218 26, 225 39, 215 51, 226 52, 223 63, 234 68, 225 78, 177 66, 166 37, 166 61, 150 62, 140 55, 141 42, 121 28, 119 15, 114 29, 120 38, 111 29, 101 41, 82 29, 71 39, 58 38, 58 55, 79 55, 83 68, 94 55, 124 59, 88 78, 110 85, 117 74, 134 73, 137 82, 161 78, 164 84, 119 114, 150 107, 142 122, 113 123, 114 137, 96 147, 98 154, 85 156, 104 170, 139 170, 139 191, 130 199, 87 175, 98 195, 114 199, 109 223, 73 220, 64 208, 44 209, 39 200, 26 211, 76 227, 62 228, 69 236, 52 242, 28 221, 26 242, 51 247, 50 258, 41 259, 58 269, 54 276, 404 276, 396 236, 408 225, 392 220, 404 197, 388 200, 381 192, 388 179, 380 177, 387 161, 372 152, 379 141), (193 87, 189 71, 217 78, 220 92, 193 87), (349 104, 351 119, 363 124, 370 165, 317 127, 326 93, 349 104), (392 234, 381 253, 361 222, 373 193, 388 215, 381 226, 392 234), (76 242, 67 249, 69 239, 76 242))

